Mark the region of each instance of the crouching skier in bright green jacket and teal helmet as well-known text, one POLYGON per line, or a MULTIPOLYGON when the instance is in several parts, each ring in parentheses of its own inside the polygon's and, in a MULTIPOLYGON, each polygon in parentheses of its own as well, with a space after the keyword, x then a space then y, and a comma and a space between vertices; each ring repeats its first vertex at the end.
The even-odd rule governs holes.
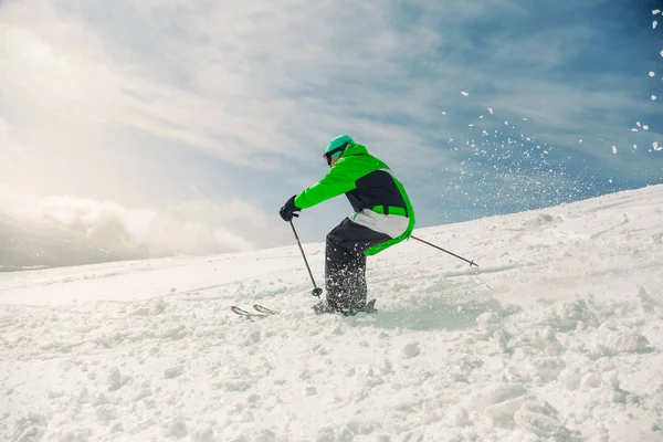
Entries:
POLYGON ((302 209, 346 194, 355 213, 327 234, 327 301, 314 309, 318 314, 375 312, 375 299, 367 303, 366 256, 410 238, 414 211, 406 189, 389 167, 349 135, 329 141, 324 158, 330 168, 327 175, 290 198, 280 214, 290 222, 302 209))

